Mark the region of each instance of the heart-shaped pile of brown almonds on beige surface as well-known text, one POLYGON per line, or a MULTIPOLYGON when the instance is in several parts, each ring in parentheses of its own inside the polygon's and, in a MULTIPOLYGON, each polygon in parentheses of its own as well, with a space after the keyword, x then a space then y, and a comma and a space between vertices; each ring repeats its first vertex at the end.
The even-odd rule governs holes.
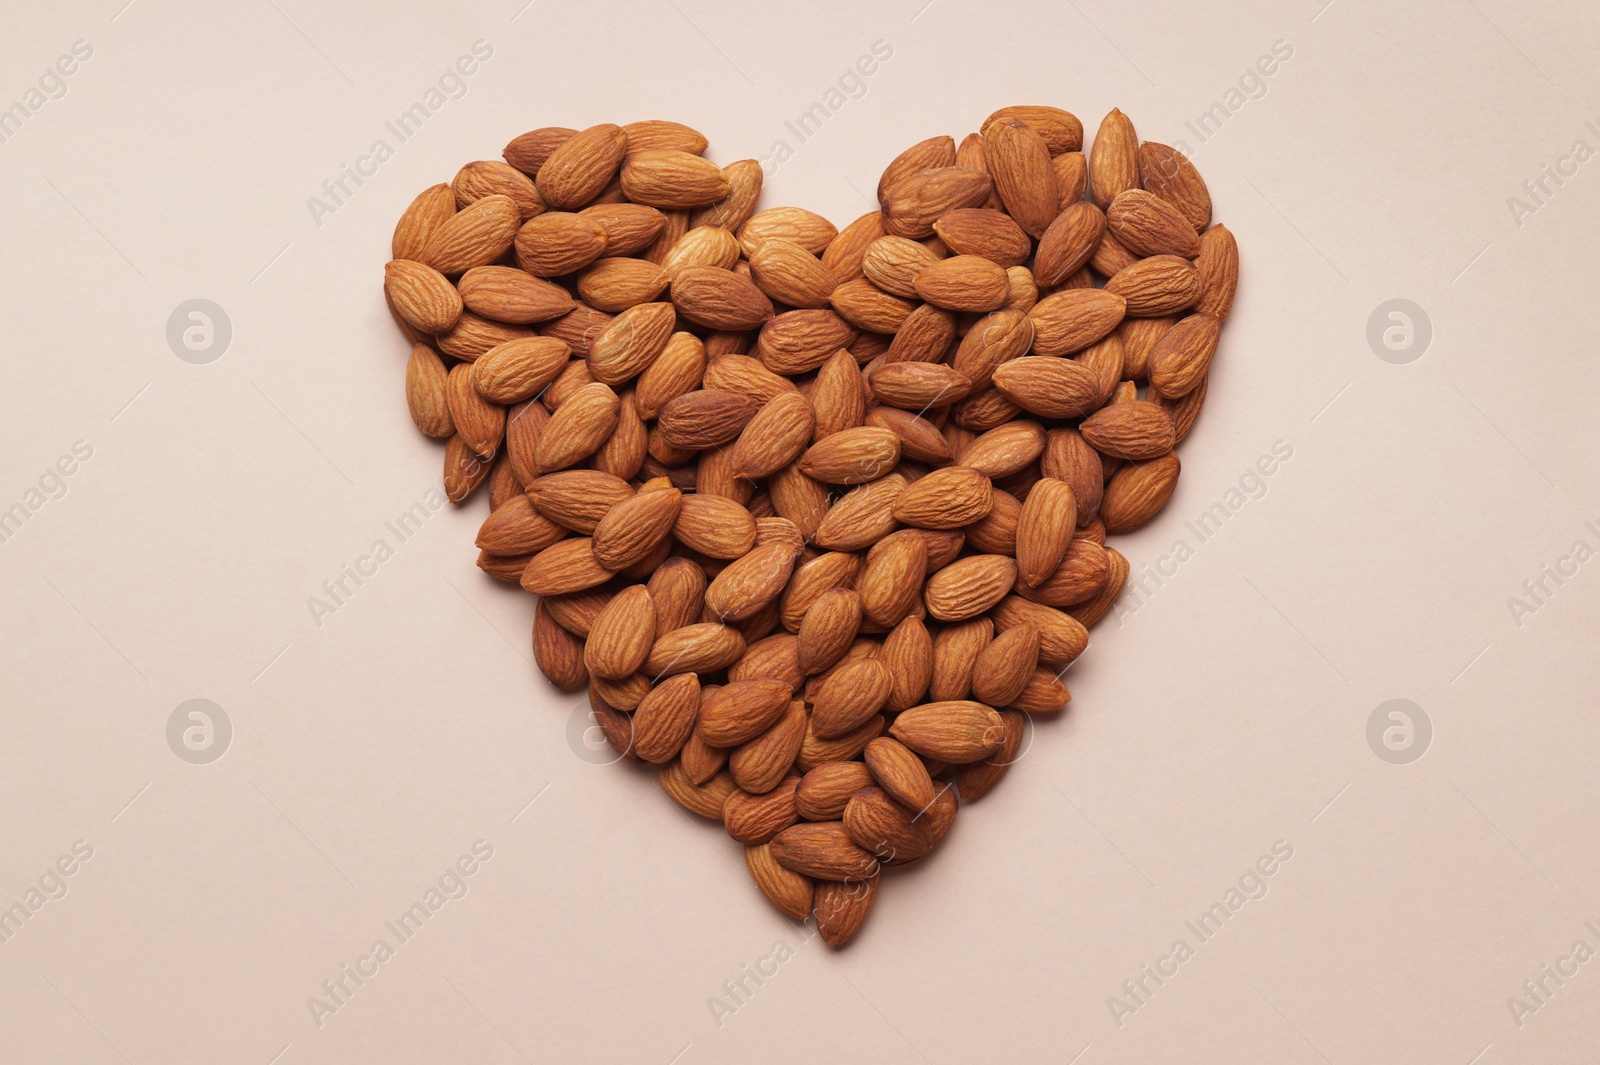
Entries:
POLYGON ((1128 577, 1238 278, 1120 110, 930 138, 843 230, 670 122, 542 128, 400 219, 411 417, 533 651, 848 942, 1018 756, 1128 577))

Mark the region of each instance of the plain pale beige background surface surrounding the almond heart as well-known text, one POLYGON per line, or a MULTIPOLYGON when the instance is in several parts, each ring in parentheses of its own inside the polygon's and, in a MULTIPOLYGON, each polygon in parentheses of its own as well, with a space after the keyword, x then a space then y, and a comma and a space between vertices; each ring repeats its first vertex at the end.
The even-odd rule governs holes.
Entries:
POLYGON ((0 42, 0 102, 93 46, 0 144, 0 507, 93 448, 0 544, 0 903, 93 848, 0 943, 0 1060, 1594 1059, 1600 961, 1522 1027, 1506 1004, 1600 950, 1600 561, 1507 608, 1600 547, 1600 162, 1522 225, 1506 203, 1600 149, 1592 5, 122 5, 13 3, 0 42), (466 94, 318 225, 307 198, 475 40, 466 94), (875 40, 866 94, 797 142, 875 40), (1184 123, 1277 40, 1293 58, 1198 144, 1184 123), (1066 720, 834 955, 715 825, 570 742, 531 598, 474 568, 482 499, 386 531, 440 449, 381 265, 421 187, 533 126, 670 117, 722 162, 786 139, 763 203, 845 222, 902 146, 1010 102, 1189 142, 1243 248, 1136 569, 1274 441, 1293 457, 1094 632, 1066 720), (210 365, 165 339, 192 297, 232 321, 210 365), (1366 341, 1394 297, 1434 328, 1410 365, 1366 341), (394 558, 318 627, 307 598, 378 537, 394 558), (195 697, 234 728, 203 766, 165 734, 195 697), (1432 721, 1411 764, 1368 747, 1389 699, 1432 721), (466 897, 314 1023, 478 840, 466 897), (1184 921, 1278 840, 1267 895, 1197 945, 1184 921), (1195 956, 1118 1027, 1107 999, 1179 937, 1195 956), (718 1025, 707 999, 776 942, 718 1025))

